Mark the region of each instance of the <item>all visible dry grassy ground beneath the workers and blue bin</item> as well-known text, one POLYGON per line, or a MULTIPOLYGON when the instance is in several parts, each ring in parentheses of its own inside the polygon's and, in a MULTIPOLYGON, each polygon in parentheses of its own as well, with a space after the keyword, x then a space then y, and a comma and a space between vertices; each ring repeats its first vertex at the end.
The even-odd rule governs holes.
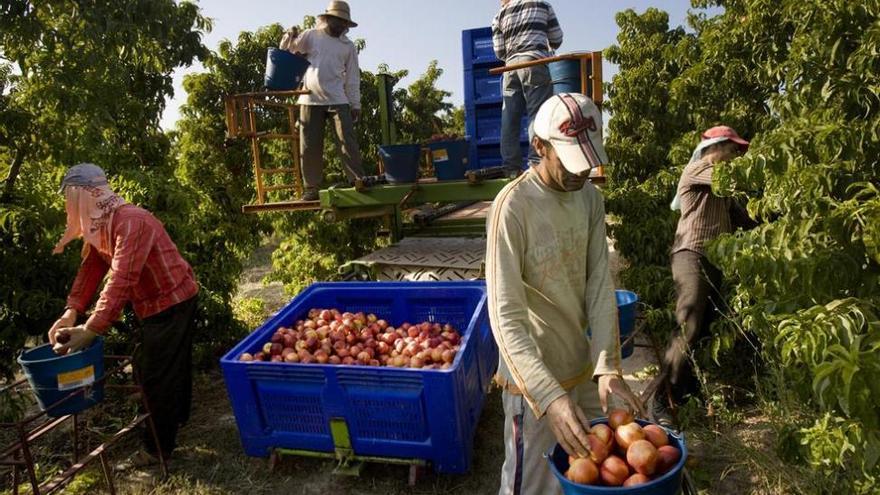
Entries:
MULTIPOLYGON (((273 246, 255 253, 242 277, 240 296, 264 301, 271 313, 289 299, 278 283, 264 285, 263 276, 271 268, 273 246)), ((638 347, 624 361, 631 386, 640 389, 649 378, 653 350, 638 347), (646 371, 647 370, 647 371, 646 371)), ((760 411, 747 411, 744 420, 733 426, 701 425, 686 433, 691 450, 689 472, 700 494, 808 494, 806 478, 783 464, 773 452, 772 426, 760 411)), ((494 494, 503 461, 503 413, 500 392, 489 394, 477 428, 472 471, 466 475, 436 475, 427 472, 415 487, 407 483, 408 469, 401 466, 368 464, 360 477, 333 474, 331 461, 285 458, 273 472, 265 459, 244 455, 235 418, 219 371, 196 377, 193 417, 183 428, 181 448, 170 466, 171 476, 160 481, 155 471, 117 474, 118 493, 125 495, 202 495, 202 494, 494 494)), ((97 428, 96 428, 97 429, 97 428)), ((47 439, 41 453, 43 473, 49 466, 63 465, 69 435, 59 433, 47 439)), ((137 446, 135 438, 112 452, 120 460, 137 446)), ((0 471, 3 473, 3 471, 0 471)), ((802 474, 802 473, 801 473, 802 474)), ((10 493, 9 479, 0 477, 0 493, 10 493)), ((97 467, 87 470, 65 493, 105 493, 97 467)), ((28 493, 25 491, 25 493, 28 493)))

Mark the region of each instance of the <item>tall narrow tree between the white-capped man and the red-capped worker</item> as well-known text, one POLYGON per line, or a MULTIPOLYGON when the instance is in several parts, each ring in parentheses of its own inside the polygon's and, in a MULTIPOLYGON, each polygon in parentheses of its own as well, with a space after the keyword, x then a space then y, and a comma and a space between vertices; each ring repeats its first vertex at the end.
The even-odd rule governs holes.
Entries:
POLYGON ((605 51, 620 68, 607 91, 612 118, 605 146, 612 163, 606 208, 618 220, 608 231, 628 262, 621 282, 639 294, 648 328, 662 335, 677 328, 668 253, 678 217, 667 205, 678 172, 668 156, 690 130, 687 115, 670 104, 670 87, 697 43, 684 29, 670 30, 669 16, 657 9, 627 10, 616 20, 618 44, 605 51))

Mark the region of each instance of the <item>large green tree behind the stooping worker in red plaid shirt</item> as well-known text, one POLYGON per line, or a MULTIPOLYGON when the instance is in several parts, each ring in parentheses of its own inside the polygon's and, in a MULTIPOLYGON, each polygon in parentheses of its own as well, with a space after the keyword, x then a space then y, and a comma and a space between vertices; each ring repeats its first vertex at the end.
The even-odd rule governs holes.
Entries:
MULTIPOLYGON (((203 57, 189 2, 12 0, 0 6, 0 375, 60 314, 78 261, 52 256, 64 170, 101 165, 128 200, 186 244, 189 197, 158 128, 171 72, 203 57)), ((196 267, 197 270, 200 267, 196 267)))

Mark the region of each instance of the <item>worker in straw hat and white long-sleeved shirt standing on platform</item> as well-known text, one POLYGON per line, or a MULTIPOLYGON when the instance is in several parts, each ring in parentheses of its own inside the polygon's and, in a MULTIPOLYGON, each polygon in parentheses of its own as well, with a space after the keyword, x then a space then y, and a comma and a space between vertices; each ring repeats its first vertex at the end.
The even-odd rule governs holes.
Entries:
POLYGON ((304 201, 316 201, 324 173, 324 123, 333 119, 342 154, 342 167, 349 181, 364 175, 354 122, 361 113, 361 71, 354 43, 345 34, 357 26, 346 2, 333 1, 318 16, 318 25, 301 34, 296 28, 285 33, 280 47, 304 55, 306 70, 300 96, 300 149, 305 182, 304 201))

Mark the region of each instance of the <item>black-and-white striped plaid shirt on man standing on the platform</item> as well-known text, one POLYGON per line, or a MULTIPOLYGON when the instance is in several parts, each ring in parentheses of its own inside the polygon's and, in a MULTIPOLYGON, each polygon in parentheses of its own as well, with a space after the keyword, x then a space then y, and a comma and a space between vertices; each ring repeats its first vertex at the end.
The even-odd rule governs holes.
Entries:
POLYGON ((505 62, 544 58, 562 44, 562 28, 553 7, 543 0, 511 0, 492 21, 492 46, 505 62))

